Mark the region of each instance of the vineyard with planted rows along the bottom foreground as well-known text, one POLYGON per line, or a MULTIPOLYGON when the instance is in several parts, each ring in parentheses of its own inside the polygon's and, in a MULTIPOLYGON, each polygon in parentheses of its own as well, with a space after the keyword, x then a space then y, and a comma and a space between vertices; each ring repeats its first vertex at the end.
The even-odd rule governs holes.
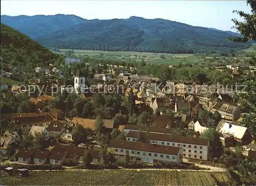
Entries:
POLYGON ((161 170, 73 170, 1 174, 1 185, 226 185, 222 172, 161 170))

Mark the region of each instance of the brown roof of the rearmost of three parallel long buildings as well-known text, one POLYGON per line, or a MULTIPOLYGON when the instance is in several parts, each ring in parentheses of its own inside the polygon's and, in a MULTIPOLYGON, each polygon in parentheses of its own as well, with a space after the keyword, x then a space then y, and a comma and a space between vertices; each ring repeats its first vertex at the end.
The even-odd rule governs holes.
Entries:
POLYGON ((170 133, 174 132, 173 128, 161 128, 161 127, 144 127, 139 125, 125 125, 124 129, 130 130, 142 130, 148 132, 170 133))

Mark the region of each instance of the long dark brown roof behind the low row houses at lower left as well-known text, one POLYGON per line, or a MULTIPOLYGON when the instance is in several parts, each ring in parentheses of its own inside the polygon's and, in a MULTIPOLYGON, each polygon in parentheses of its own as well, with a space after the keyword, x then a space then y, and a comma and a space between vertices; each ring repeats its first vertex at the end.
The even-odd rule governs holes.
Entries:
MULTIPOLYGON (((88 149, 82 148, 82 147, 75 147, 72 145, 56 145, 52 151, 56 152, 67 152, 67 153, 73 153, 77 154, 78 156, 83 156, 88 149)), ((99 157, 99 151, 90 150, 90 153, 92 154, 93 158, 99 157)))

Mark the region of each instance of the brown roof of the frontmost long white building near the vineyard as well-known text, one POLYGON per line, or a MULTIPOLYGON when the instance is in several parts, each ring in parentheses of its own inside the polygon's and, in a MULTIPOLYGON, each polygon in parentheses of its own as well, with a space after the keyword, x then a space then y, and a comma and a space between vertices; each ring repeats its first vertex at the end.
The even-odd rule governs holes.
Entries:
POLYGON ((140 142, 126 142, 126 141, 112 141, 109 145, 112 148, 123 148, 123 149, 132 149, 146 152, 156 152, 163 154, 173 154, 177 155, 181 148, 179 147, 171 147, 171 146, 163 146, 163 145, 152 145, 145 144, 140 142))

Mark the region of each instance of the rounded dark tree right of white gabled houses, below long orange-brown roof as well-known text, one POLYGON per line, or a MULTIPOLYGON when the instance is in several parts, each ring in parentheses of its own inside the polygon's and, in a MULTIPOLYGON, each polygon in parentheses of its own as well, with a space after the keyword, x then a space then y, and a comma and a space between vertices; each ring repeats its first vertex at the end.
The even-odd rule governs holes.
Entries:
POLYGON ((87 141, 87 130, 80 124, 73 127, 72 135, 76 145, 87 141))

